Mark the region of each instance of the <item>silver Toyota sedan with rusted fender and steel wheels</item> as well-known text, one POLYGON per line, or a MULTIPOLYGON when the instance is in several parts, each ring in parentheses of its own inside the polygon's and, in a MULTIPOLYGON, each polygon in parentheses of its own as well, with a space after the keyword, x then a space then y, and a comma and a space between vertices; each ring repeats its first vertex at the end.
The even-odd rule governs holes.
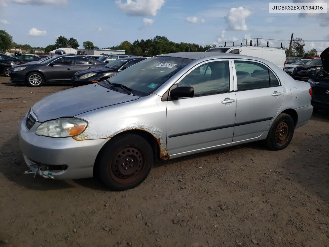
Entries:
POLYGON ((97 84, 38 101, 19 145, 27 173, 138 186, 155 159, 263 140, 286 148, 311 118, 312 89, 274 64, 218 52, 148 58, 97 84))

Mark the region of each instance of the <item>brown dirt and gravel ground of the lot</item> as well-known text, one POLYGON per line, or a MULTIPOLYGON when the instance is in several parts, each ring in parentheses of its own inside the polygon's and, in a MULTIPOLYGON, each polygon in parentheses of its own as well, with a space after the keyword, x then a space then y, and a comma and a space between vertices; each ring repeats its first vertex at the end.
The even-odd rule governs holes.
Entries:
POLYGON ((329 116, 283 151, 258 143, 161 161, 136 189, 24 175, 17 128, 70 86, 0 77, 0 246, 329 246, 329 116))

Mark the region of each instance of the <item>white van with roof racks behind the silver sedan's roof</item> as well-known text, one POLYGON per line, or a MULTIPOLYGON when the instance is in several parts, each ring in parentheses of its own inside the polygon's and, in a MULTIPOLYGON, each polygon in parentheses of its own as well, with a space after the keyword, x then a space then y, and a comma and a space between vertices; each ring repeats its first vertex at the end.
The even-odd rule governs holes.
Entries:
POLYGON ((270 48, 270 47, 260 47, 260 46, 224 46, 224 47, 214 47, 206 51, 211 52, 224 52, 224 53, 234 53, 241 54, 252 57, 263 58, 267 61, 278 66, 280 69, 284 69, 286 62, 286 52, 284 49, 270 48))

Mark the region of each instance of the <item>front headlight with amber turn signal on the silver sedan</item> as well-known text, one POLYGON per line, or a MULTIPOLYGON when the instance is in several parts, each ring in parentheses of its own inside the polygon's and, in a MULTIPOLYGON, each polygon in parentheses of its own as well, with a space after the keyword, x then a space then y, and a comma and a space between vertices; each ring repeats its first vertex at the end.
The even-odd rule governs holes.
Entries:
POLYGON ((70 137, 81 134, 88 122, 79 118, 59 118, 44 122, 36 129, 36 135, 48 137, 70 137))

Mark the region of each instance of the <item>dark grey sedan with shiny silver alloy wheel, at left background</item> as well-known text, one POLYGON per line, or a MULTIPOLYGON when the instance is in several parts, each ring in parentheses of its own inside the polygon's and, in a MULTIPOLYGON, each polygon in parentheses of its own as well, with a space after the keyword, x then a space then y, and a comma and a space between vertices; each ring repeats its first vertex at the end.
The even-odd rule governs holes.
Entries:
POLYGON ((30 87, 40 87, 46 82, 71 82, 74 73, 104 65, 106 63, 86 56, 53 56, 14 66, 10 73, 10 80, 13 83, 27 83, 30 87))

